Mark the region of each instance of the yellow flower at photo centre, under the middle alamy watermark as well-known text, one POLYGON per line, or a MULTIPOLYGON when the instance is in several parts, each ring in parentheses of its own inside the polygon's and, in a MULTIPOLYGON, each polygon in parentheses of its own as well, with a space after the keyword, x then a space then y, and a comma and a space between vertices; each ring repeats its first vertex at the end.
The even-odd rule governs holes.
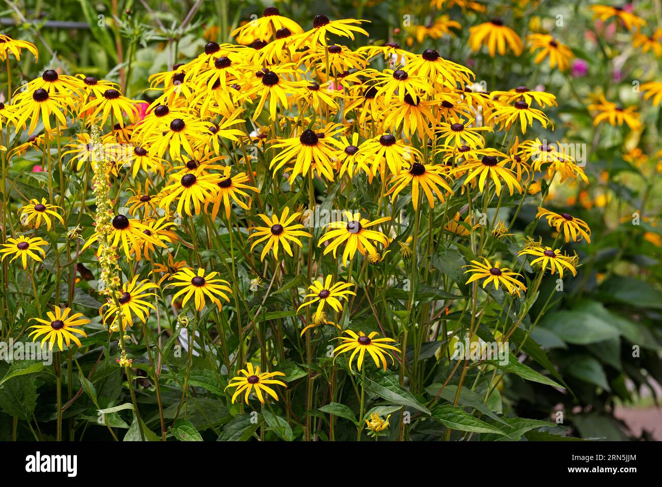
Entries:
POLYGON ((328 230, 320 237, 317 246, 321 247, 324 242, 332 240, 332 242, 324 249, 324 255, 333 252, 334 259, 336 252, 340 245, 345 244, 345 249, 342 253, 342 262, 347 263, 354 258, 358 250, 361 255, 369 253, 373 259, 377 255, 377 249, 373 242, 379 242, 384 247, 389 246, 389 239, 382 232, 378 230, 368 230, 371 226, 379 225, 383 222, 391 220, 390 216, 377 218, 371 222, 367 218, 361 218, 360 213, 350 213, 348 211, 343 213, 343 216, 348 221, 331 222, 328 224, 328 230))

